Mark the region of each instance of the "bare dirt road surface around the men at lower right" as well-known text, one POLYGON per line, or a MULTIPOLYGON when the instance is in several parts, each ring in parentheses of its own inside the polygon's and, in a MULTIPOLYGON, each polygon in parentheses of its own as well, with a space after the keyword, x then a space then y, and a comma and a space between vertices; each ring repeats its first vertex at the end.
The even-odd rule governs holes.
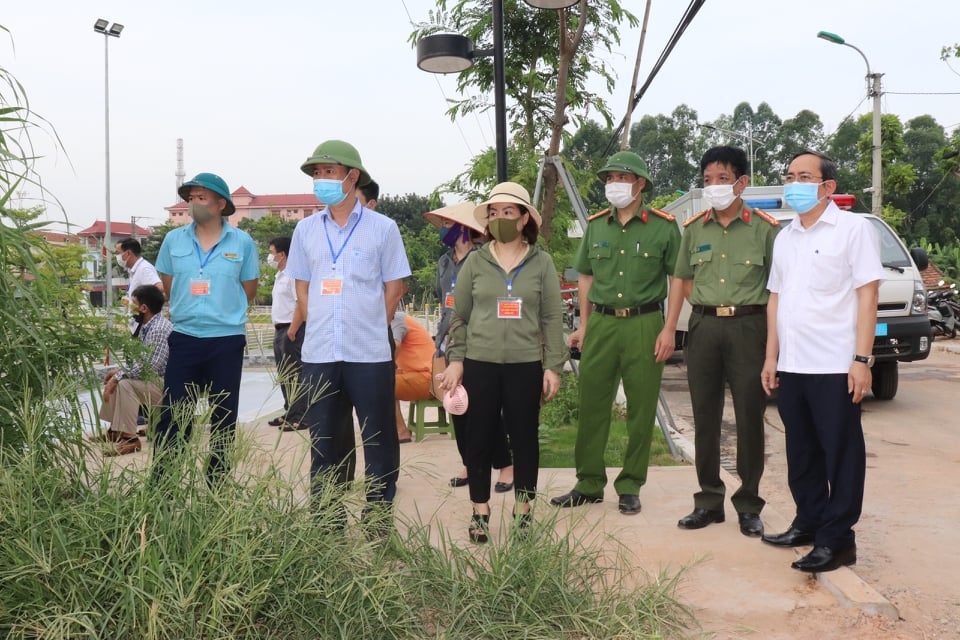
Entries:
MULTIPOLYGON (((960 342, 957 340, 952 343, 960 342)), ((712 638, 940 639, 960 638, 960 420, 952 404, 960 391, 960 355, 936 344, 930 358, 902 364, 900 391, 892 401, 864 403, 867 486, 864 513, 857 526, 858 562, 854 572, 899 611, 900 618, 868 616, 843 608, 811 578, 810 606, 786 619, 749 616, 743 628, 712 638)), ((664 391, 674 416, 692 424, 686 371, 669 364, 664 391)), ((725 466, 736 473, 735 427, 727 402, 723 449, 725 466)), ((776 402, 766 413, 767 462, 761 485, 770 507, 792 517, 787 487, 783 425, 776 402)), ((692 429, 683 434, 692 440, 692 429)), ((789 570, 789 569, 788 569, 789 570)), ((701 619, 706 630, 723 628, 701 619)))

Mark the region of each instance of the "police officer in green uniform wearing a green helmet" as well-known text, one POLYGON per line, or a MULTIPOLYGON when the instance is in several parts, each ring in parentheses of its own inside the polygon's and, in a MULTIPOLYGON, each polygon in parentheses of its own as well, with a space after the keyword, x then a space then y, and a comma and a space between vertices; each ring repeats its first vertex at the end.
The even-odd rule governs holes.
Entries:
POLYGON ((640 487, 647 480, 663 363, 674 346, 672 338, 660 344, 658 336, 680 230, 669 213, 643 206, 641 194, 653 184, 637 154, 613 154, 597 175, 613 207, 591 216, 574 262, 582 322, 569 342, 583 352, 577 484, 550 503, 576 507, 603 500, 610 409, 622 380, 628 442, 613 486, 620 513, 633 515, 640 513, 640 487))

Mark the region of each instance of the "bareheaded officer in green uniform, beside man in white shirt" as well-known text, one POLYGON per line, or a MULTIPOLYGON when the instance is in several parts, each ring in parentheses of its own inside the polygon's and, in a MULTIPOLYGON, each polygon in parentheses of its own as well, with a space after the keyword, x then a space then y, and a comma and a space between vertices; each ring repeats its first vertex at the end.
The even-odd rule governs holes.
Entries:
POLYGON ((733 494, 740 531, 763 534, 763 411, 760 381, 767 342, 767 278, 775 218, 746 206, 748 161, 742 149, 714 147, 700 160, 709 209, 684 224, 677 268, 670 283, 666 328, 676 329, 684 295, 692 306, 687 334, 687 381, 696 430, 697 480, 694 510, 677 525, 701 529, 723 522, 720 424, 725 385, 730 385, 737 421, 737 473, 733 494))

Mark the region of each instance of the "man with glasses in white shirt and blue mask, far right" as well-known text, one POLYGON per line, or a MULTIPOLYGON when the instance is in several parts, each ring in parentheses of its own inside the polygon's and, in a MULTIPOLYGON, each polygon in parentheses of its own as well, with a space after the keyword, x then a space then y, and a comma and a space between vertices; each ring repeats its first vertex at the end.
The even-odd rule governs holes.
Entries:
POLYGON ((884 271, 872 224, 830 199, 837 188, 833 160, 801 152, 784 183, 784 200, 798 215, 773 246, 760 378, 768 395, 779 389, 797 511, 787 531, 763 541, 814 545, 791 566, 819 573, 857 561, 853 525, 863 508, 866 476, 860 402, 872 381, 884 271))

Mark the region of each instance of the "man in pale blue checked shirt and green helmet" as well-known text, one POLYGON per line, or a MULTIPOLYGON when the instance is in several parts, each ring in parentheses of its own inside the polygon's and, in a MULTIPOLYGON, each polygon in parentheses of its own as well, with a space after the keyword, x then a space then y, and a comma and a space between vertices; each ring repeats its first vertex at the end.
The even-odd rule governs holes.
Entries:
MULTIPOLYGON (((397 224, 363 207, 355 192, 370 181, 357 150, 328 140, 300 167, 326 205, 293 233, 287 273, 307 318, 303 376, 310 408, 310 478, 315 499, 344 462, 338 448, 342 397, 353 404, 363 436, 368 508, 396 494, 400 445, 394 425, 394 364, 387 327, 410 275, 397 224)), ((317 508, 326 505, 316 504, 317 508)), ((343 506, 337 505, 338 513, 343 506)))

